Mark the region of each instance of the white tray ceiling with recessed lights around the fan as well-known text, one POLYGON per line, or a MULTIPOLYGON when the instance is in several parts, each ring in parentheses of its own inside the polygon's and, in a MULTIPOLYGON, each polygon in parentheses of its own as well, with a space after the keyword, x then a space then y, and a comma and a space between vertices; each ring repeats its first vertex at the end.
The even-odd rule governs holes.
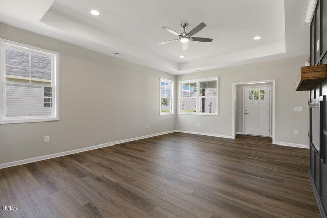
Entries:
POLYGON ((309 53, 308 0, 0 0, 0 22, 172 74, 309 53), (100 16, 89 12, 97 9, 100 16), (213 42, 158 45, 206 23, 213 42), (253 40, 254 36, 260 40, 253 40), (115 55, 118 52, 121 55, 115 55), (185 58, 179 58, 184 55, 185 58))

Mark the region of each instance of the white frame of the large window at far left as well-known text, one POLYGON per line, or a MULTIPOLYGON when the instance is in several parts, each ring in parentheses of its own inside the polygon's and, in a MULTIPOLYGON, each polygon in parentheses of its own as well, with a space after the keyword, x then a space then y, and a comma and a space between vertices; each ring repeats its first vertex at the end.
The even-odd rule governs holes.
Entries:
MULTIPOLYGON (((30 122, 47 122, 59 120, 59 59, 58 52, 41 49, 39 47, 22 44, 0 38, 0 124, 11 123, 30 123, 30 122), (33 53, 51 58, 51 85, 52 87, 52 115, 50 116, 20 116, 6 117, 6 84, 24 84, 20 82, 7 83, 6 81, 6 66, 5 66, 5 49, 13 49, 22 52, 33 53)), ((31 75, 30 75, 31 77, 31 75)), ((36 79, 37 80, 37 79, 36 79)), ((37 83, 26 83, 27 86, 49 86, 37 83)), ((44 94, 44 91, 43 91, 44 94)), ((44 108, 42 108, 44 109, 44 108)))

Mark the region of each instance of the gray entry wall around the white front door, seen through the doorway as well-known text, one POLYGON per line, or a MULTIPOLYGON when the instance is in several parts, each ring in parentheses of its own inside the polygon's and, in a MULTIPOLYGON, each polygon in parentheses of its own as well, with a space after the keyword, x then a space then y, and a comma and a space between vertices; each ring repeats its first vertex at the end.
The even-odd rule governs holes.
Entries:
MULTIPOLYGON (((255 86, 268 86, 271 85, 272 92, 272 83, 264 83, 264 84, 242 84, 236 85, 236 109, 235 109, 235 131, 239 133, 243 133, 243 88, 244 87, 255 87, 255 86)), ((272 95, 271 95, 272 98, 272 95)), ((272 109, 272 107, 271 107, 272 109)), ((271 124, 270 124, 271 129, 271 124)))

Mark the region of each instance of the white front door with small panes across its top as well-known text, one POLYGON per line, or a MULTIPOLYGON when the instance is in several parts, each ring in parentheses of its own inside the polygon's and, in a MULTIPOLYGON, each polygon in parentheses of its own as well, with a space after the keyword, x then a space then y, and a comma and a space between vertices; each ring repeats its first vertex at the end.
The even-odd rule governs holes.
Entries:
POLYGON ((244 88, 244 134, 270 136, 270 86, 244 88))

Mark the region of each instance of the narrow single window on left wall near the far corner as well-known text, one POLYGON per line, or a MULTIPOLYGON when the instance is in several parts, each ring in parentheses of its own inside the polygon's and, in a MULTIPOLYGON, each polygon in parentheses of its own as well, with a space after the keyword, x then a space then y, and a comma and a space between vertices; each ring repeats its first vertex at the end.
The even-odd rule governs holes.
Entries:
POLYGON ((174 114, 174 81, 160 79, 160 115, 174 114))

